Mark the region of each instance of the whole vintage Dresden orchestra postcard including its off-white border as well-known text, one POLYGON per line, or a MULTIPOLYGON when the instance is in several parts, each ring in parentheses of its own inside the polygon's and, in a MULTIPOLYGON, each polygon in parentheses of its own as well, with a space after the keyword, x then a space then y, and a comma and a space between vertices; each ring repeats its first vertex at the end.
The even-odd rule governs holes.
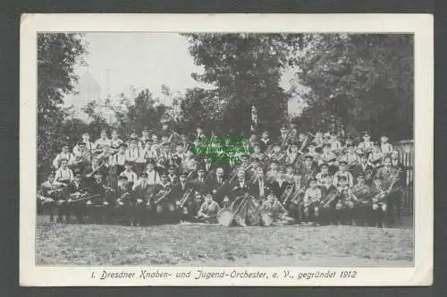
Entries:
POLYGON ((23 14, 24 286, 430 285, 433 17, 23 14))

